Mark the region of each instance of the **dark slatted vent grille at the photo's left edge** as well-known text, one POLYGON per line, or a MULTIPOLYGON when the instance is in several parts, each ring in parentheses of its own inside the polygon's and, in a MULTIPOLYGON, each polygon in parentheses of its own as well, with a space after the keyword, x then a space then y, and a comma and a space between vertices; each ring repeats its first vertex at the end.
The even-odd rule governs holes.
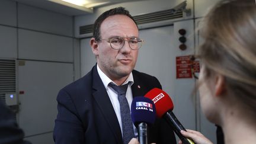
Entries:
POLYGON ((15 60, 0 59, 0 94, 16 91, 16 65, 15 60))

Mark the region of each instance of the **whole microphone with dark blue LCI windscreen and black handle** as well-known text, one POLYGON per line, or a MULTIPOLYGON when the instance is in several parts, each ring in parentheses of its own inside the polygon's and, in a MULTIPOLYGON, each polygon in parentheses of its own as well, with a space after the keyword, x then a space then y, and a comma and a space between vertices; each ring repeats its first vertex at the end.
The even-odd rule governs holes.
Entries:
POLYGON ((140 144, 148 144, 148 125, 155 122, 156 110, 153 101, 146 97, 134 97, 131 105, 133 124, 138 130, 140 144))

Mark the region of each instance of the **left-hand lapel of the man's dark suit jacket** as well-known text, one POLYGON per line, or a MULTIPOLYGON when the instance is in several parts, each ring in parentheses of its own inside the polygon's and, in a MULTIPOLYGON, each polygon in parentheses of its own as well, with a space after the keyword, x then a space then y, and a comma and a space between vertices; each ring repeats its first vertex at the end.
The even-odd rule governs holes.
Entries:
POLYGON ((105 90, 104 84, 98 75, 97 66, 94 66, 92 69, 92 79, 92 95, 94 96, 98 107, 100 107, 101 113, 105 117, 113 135, 116 137, 117 143, 123 143, 116 113, 113 105, 111 104, 110 98, 108 97, 107 91, 105 90))

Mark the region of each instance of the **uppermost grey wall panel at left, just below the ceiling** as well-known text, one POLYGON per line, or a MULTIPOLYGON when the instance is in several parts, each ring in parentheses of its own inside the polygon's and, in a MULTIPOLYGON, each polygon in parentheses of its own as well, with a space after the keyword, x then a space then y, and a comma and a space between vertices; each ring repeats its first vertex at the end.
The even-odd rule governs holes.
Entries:
POLYGON ((18 26, 63 36, 73 36, 72 17, 24 4, 18 4, 18 26))

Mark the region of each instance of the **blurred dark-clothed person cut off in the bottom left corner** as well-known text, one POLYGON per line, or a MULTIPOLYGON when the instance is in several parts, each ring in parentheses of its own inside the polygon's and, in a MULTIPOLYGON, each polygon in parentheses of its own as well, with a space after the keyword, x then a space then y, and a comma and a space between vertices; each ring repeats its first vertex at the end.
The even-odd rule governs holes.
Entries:
POLYGON ((0 143, 30 144, 23 137, 23 130, 18 127, 14 114, 0 101, 0 143))

